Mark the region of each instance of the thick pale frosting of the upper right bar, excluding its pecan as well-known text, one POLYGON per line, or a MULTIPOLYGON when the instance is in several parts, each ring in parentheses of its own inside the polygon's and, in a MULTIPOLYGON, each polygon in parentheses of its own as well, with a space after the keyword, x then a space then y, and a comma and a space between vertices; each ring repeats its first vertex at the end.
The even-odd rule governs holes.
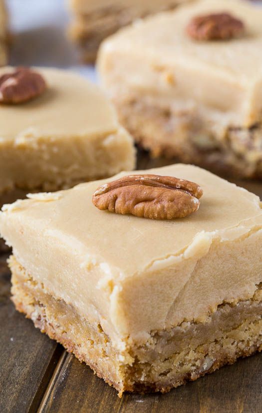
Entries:
POLYGON ((262 121, 261 22, 262 9, 241 0, 201 0, 159 14, 105 41, 99 57, 103 82, 114 94, 126 88, 177 110, 202 111, 222 125, 249 127, 262 121), (216 12, 240 18, 245 35, 230 41, 189 38, 192 17, 216 12))

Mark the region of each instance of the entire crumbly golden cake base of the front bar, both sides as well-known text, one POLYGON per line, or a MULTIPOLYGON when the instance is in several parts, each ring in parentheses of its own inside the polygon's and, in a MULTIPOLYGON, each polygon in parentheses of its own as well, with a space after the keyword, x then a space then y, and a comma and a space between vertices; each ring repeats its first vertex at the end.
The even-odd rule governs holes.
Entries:
POLYGON ((16 309, 86 362, 120 396, 126 390, 166 392, 262 350, 262 285, 248 301, 219 306, 207 323, 152 331, 144 345, 127 341, 120 354, 100 325, 91 325, 72 306, 46 293, 14 257, 9 266, 16 309))

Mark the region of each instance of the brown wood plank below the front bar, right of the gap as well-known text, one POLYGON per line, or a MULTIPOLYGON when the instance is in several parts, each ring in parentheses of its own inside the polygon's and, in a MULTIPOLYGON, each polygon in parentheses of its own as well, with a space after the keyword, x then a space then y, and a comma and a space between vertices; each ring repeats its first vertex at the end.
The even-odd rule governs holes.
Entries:
POLYGON ((262 355, 239 360, 166 394, 124 394, 68 354, 55 376, 41 413, 261 413, 262 355))

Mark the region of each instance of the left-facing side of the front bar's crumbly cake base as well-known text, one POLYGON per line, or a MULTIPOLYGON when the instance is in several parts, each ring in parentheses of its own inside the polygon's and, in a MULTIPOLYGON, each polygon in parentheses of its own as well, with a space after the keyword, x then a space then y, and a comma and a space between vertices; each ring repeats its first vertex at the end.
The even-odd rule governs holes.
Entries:
POLYGON ((121 393, 123 380, 118 354, 101 325, 89 323, 71 305, 46 293, 43 284, 34 281, 14 256, 10 256, 8 264, 15 308, 121 393))

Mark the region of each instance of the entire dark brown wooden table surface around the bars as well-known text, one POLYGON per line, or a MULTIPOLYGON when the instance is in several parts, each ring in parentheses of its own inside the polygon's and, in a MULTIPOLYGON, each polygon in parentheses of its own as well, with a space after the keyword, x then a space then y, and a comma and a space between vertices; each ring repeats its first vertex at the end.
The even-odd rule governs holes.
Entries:
MULTIPOLYGON (((140 169, 162 166, 139 154, 140 169)), ((242 183, 262 197, 262 184, 242 183)), ((239 360, 167 394, 124 394, 34 328, 10 301, 0 255, 0 413, 261 413, 262 355, 239 360)))

